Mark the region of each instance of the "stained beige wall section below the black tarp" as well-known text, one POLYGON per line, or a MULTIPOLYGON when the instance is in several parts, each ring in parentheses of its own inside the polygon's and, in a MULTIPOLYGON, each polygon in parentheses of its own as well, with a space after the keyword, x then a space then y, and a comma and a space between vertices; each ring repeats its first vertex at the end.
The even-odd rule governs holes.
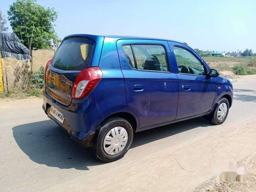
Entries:
POLYGON ((29 83, 29 72, 31 70, 30 60, 17 60, 15 58, 2 58, 2 71, 4 91, 18 87, 25 89, 29 83))

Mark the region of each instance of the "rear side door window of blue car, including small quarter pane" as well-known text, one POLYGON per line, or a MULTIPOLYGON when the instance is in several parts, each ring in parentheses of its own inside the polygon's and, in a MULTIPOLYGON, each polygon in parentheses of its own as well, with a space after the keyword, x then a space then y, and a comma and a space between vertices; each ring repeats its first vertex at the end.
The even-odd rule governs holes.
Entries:
MULTIPOLYGON (((123 46, 124 54, 127 57, 128 51, 123 46)), ((132 48, 130 53, 133 58, 135 56, 135 67, 138 70, 152 70, 152 71, 165 71, 169 72, 167 54, 163 46, 161 45, 128 45, 132 48)), ((130 48, 129 48, 130 49, 130 48)), ((132 60, 129 56, 127 60, 132 60)), ((131 64, 131 62, 130 62, 131 64)), ((133 65, 131 65, 133 67, 133 65)))

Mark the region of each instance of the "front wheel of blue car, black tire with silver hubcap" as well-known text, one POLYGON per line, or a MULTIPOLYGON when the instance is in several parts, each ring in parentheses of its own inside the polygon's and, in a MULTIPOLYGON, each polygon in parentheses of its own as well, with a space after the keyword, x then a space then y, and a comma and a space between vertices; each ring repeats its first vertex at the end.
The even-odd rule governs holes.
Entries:
POLYGON ((204 116, 204 118, 208 121, 210 121, 212 124, 222 124, 226 120, 229 112, 229 102, 226 98, 222 97, 218 101, 218 105, 216 109, 207 116, 204 116), (226 110, 225 110, 226 108, 226 110), (224 110, 222 110, 224 109, 224 110), (225 112, 226 111, 226 112, 225 112), (219 112, 219 113, 218 113, 219 112), (224 116, 221 117, 221 114, 225 114, 224 116))

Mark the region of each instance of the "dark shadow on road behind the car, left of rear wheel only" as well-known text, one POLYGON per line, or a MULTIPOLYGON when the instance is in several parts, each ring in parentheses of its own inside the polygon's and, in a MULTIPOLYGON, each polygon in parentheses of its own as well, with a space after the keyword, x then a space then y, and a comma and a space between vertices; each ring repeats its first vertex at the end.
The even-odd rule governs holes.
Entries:
POLYGON ((80 170, 103 164, 95 160, 91 148, 78 145, 52 120, 18 125, 12 130, 19 148, 36 163, 80 170))

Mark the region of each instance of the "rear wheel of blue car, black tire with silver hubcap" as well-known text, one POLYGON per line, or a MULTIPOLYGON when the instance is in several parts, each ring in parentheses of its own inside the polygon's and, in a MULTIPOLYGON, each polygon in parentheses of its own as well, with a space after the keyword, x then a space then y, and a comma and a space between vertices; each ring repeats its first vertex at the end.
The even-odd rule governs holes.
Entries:
POLYGON ((131 147, 132 142, 131 124, 121 117, 112 117, 99 126, 94 150, 98 159, 112 162, 121 159, 131 147))

